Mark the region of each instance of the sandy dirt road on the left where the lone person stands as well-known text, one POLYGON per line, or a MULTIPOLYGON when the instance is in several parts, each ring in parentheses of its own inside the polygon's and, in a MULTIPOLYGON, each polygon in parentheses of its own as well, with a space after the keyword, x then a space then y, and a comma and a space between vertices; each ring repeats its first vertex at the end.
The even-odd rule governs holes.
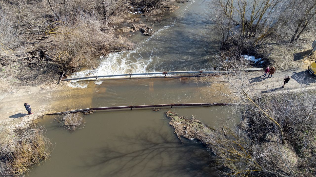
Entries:
POLYGON ((86 108, 91 106, 93 84, 88 88, 72 88, 68 82, 40 85, 37 87, 21 87, 11 89, 0 95, 0 143, 9 138, 12 130, 24 127, 47 113, 60 110, 86 108), (23 106, 29 103, 33 115, 27 115, 23 106))

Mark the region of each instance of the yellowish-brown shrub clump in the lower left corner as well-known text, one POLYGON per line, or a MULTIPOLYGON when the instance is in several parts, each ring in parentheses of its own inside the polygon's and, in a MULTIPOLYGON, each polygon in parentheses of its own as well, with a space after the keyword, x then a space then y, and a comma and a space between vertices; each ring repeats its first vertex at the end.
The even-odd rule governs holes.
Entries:
POLYGON ((33 126, 15 133, 10 142, 0 147, 0 173, 3 176, 22 176, 49 158, 52 142, 45 136, 43 127, 33 126))

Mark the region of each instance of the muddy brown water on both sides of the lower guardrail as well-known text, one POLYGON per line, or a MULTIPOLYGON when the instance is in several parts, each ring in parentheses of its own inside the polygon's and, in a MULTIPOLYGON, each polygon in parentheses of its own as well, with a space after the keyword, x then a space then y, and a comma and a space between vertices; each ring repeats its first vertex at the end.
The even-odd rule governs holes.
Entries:
MULTIPOLYGON (((199 78, 142 78, 106 80, 88 84, 64 99, 64 106, 76 102, 91 106, 200 103, 220 101, 214 90, 199 78), (86 91, 86 92, 85 92, 86 91), (215 96, 214 96, 215 95, 215 96), (90 101, 80 102, 80 100, 90 101)), ((54 117, 40 124, 56 143, 51 158, 28 173, 39 176, 216 176, 209 152, 198 142, 181 144, 164 112, 192 115, 205 124, 220 128, 232 108, 178 107, 160 111, 135 109, 95 112, 85 117, 85 127, 69 132, 54 117)), ((232 126, 234 121, 229 121, 232 126)))

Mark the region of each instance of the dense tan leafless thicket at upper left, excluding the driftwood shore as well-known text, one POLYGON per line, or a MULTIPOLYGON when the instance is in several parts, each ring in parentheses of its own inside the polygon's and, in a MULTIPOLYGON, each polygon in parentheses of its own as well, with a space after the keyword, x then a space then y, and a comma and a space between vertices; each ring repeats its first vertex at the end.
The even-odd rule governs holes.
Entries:
POLYGON ((132 47, 108 26, 110 17, 126 8, 124 0, 8 0, 0 6, 0 54, 20 56, 14 62, 28 59, 32 70, 45 65, 72 72, 132 47))

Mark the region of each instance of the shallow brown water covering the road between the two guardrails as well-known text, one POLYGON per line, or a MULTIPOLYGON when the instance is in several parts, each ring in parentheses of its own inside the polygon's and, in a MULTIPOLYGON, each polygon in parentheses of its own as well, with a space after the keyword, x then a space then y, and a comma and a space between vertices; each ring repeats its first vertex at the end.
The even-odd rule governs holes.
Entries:
POLYGON ((87 85, 55 94, 51 107, 60 112, 90 107, 226 102, 215 88, 227 90, 205 77, 115 79, 103 80, 100 85, 90 81, 87 85))

